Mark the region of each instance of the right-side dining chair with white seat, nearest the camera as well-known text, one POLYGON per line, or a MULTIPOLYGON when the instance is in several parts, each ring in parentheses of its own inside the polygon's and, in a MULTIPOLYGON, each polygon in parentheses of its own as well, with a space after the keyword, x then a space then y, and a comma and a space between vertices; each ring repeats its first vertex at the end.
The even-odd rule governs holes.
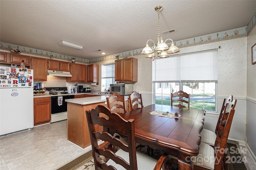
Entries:
POLYGON ((191 157, 193 170, 226 170, 228 168, 224 161, 224 150, 235 113, 233 108, 235 105, 236 100, 233 100, 225 107, 214 147, 203 142, 200 143, 198 156, 191 157))

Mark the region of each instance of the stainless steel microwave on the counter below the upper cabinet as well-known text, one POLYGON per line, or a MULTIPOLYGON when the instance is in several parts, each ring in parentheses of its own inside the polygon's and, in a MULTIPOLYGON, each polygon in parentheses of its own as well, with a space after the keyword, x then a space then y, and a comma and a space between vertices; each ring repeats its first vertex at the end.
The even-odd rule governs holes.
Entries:
POLYGON ((117 94, 120 95, 130 95, 132 94, 132 84, 124 84, 124 83, 119 83, 119 84, 110 84, 110 93, 116 92, 117 94))

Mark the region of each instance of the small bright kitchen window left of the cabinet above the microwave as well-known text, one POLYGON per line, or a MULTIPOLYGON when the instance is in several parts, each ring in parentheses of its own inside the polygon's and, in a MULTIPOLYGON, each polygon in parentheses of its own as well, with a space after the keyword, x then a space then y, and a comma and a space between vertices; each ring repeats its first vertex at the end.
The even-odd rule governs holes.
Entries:
POLYGON ((101 67, 102 91, 110 89, 110 84, 115 84, 115 63, 102 65, 101 67))

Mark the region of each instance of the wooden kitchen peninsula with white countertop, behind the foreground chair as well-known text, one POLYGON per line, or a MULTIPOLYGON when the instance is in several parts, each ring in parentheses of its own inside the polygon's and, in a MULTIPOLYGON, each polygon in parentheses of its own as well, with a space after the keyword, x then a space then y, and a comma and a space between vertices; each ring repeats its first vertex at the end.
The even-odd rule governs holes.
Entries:
MULTIPOLYGON (((104 96, 94 96, 90 98, 74 98, 65 100, 68 102, 68 141, 78 145, 82 149, 91 145, 90 133, 85 111, 95 109, 98 105, 107 106, 104 96)), ((102 127, 96 127, 98 131, 102 127)))

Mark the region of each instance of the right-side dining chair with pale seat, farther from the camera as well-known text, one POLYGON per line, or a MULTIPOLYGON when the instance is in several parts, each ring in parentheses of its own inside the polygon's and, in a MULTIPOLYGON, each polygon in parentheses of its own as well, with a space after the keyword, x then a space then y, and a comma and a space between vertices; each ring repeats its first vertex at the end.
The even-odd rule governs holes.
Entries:
MULTIPOLYGON (((216 135, 217 135, 219 127, 220 127, 220 122, 221 122, 222 117, 223 117, 224 109, 225 109, 226 105, 229 104, 232 101, 233 101, 233 96, 232 95, 230 95, 228 98, 223 100, 222 107, 221 107, 221 110, 220 110, 220 115, 219 115, 219 118, 218 118, 218 121, 217 121, 215 131, 213 132, 213 131, 210 131, 208 129, 202 129, 202 131, 200 133, 201 142, 204 142, 208 145, 214 146, 216 135)), ((236 105, 234 105, 233 108, 235 108, 235 106, 236 105)))

